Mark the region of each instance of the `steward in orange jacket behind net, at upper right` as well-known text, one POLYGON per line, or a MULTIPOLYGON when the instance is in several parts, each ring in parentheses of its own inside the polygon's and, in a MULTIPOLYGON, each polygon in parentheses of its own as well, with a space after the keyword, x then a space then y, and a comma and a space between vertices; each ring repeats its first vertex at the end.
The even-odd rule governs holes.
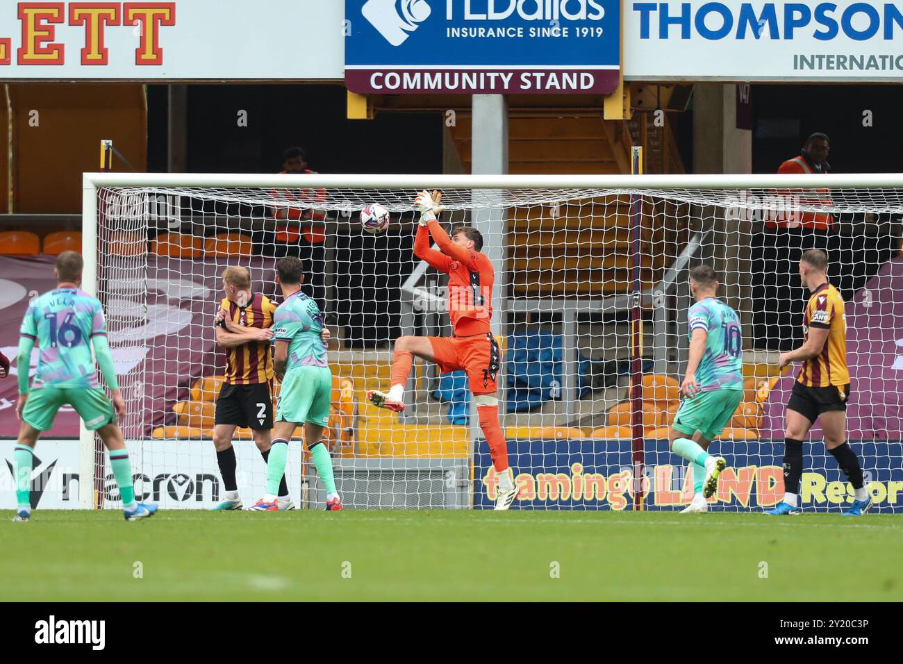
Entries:
MULTIPOLYGON (((827 174, 831 143, 820 133, 809 136, 800 154, 781 164, 777 173, 827 174)), ((830 203, 828 190, 777 190, 787 205, 817 206, 830 203)), ((778 212, 765 221, 752 238, 753 310, 756 345, 776 351, 794 347, 796 325, 801 320, 805 298, 795 284, 799 259, 807 249, 822 249, 831 255, 836 245, 833 215, 819 211, 778 212)))

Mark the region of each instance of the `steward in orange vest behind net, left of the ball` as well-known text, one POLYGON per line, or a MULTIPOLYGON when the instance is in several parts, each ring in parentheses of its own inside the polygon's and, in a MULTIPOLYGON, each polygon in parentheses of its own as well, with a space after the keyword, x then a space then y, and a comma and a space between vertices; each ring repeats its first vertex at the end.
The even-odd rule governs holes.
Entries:
MULTIPOLYGON (((312 175, 308 168, 307 154, 302 147, 290 147, 283 154, 285 175, 312 175)), ((275 232, 265 236, 265 256, 301 258, 310 272, 304 279, 303 291, 312 297, 325 311, 326 212, 313 210, 312 203, 326 201, 326 190, 273 190, 271 195, 279 201, 271 210, 276 220, 275 232)))

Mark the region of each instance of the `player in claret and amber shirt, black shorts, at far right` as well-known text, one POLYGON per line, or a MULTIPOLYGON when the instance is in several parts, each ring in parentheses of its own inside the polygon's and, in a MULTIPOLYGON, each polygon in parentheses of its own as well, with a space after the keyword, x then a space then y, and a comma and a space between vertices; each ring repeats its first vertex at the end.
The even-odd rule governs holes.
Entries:
POLYGON ((828 258, 810 249, 799 261, 799 276, 809 292, 803 315, 803 345, 782 353, 780 369, 803 360, 793 393, 787 402, 787 437, 784 440, 784 500, 767 514, 798 514, 797 491, 803 474, 803 439, 819 419, 824 446, 852 483, 855 500, 844 516, 860 517, 871 507, 859 458, 846 442, 846 404, 850 397, 850 371, 846 364, 846 321, 843 299, 828 283, 828 258))

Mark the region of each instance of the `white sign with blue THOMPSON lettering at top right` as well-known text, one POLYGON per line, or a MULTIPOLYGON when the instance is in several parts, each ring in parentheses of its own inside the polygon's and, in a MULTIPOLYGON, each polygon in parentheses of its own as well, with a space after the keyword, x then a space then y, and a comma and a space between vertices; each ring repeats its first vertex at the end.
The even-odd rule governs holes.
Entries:
POLYGON ((903 79, 903 2, 628 0, 624 78, 903 79))

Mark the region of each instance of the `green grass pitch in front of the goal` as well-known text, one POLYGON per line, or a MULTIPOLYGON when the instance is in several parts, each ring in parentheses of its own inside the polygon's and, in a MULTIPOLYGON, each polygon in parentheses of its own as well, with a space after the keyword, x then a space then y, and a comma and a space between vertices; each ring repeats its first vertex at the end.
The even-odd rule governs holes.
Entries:
POLYGON ((903 517, 0 512, 0 600, 903 599, 903 517), (139 576, 140 572, 140 577, 139 576))

